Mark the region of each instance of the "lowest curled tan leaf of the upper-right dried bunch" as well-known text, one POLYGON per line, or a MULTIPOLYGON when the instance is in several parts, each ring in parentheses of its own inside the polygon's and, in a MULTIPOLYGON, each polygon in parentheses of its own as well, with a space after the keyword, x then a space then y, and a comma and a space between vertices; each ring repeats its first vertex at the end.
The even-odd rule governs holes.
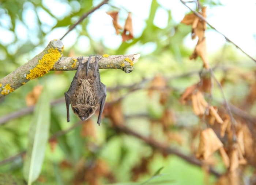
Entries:
POLYGON ((196 48, 193 52, 193 54, 189 57, 189 59, 196 59, 197 56, 200 56, 200 58, 203 60, 204 68, 208 69, 210 68, 207 60, 207 53, 206 53, 206 39, 203 38, 202 40, 198 40, 196 44, 196 48))

